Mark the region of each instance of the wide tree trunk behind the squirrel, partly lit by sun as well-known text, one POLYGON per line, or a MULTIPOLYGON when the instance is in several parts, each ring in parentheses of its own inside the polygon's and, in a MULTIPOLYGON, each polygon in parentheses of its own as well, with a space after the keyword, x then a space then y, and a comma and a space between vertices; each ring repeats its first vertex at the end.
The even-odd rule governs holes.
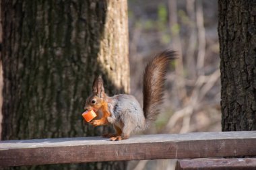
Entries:
POLYGON ((3 140, 102 134, 81 114, 96 75, 109 95, 129 93, 127 1, 2 0, 1 14, 3 140))

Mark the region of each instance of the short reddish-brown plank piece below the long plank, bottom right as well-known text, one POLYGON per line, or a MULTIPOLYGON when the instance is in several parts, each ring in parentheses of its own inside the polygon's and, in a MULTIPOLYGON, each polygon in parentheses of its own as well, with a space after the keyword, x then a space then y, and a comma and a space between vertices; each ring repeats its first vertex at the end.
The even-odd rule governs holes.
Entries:
POLYGON ((177 161, 176 170, 255 170, 256 158, 237 158, 237 159, 191 159, 177 161))

